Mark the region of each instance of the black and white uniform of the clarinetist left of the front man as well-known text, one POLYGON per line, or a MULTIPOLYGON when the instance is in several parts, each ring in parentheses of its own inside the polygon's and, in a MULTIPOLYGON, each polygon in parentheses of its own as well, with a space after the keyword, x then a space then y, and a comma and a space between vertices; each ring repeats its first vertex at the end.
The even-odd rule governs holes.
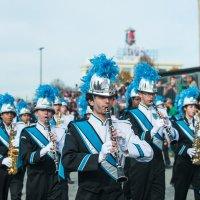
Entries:
MULTIPOLYGON (((51 127, 51 131, 57 136, 57 154, 61 152, 65 132, 64 129, 51 127)), ((61 184, 51 152, 40 155, 42 148, 50 142, 47 128, 40 122, 22 130, 20 136, 20 155, 27 165, 27 200, 60 200, 61 184)))

